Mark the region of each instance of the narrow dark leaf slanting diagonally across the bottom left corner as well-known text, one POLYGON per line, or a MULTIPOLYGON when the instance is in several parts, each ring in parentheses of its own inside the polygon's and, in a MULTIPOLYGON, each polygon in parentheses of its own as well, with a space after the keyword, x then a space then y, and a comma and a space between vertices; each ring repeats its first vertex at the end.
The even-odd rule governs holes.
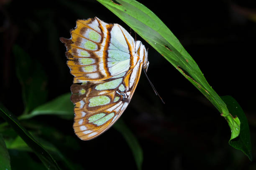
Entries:
POLYGON ((48 170, 60 170, 52 156, 38 143, 28 131, 20 125, 18 119, 0 103, 0 116, 2 116, 27 145, 34 151, 48 170))

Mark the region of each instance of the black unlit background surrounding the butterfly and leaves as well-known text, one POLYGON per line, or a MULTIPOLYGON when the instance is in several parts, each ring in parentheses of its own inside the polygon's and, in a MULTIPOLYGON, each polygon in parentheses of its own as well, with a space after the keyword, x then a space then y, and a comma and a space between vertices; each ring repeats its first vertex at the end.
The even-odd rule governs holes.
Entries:
MULTIPOLYGON (((255 158, 256 1, 139 2, 169 27, 218 95, 231 95, 241 105, 248 118, 255 158)), ((15 73, 14 44, 42 65, 48 77, 49 101, 69 92, 72 85, 73 77, 64 55, 66 49, 59 37, 69 38, 69 30, 75 27, 77 19, 97 16, 130 30, 94 0, 0 0, 0 3, 0 100, 17 116, 24 107, 15 73)), ((138 35, 137 39, 142 40, 138 35)), ((250 162, 241 151, 228 145, 230 129, 220 112, 154 48, 142 42, 149 48, 148 77, 166 102, 161 103, 142 74, 122 115, 143 149, 143 169, 256 169, 255 161, 250 162)), ((1 118, 0 121, 3 122, 1 118)), ((82 141, 74 134, 70 120, 49 115, 35 117, 33 122, 53 126, 70 136, 70 141, 75 140, 79 145, 74 145, 73 150, 69 140, 64 142, 70 142, 70 148, 63 148, 58 141, 46 138, 83 169, 136 169, 129 146, 114 128, 94 140, 82 141)), ((13 162, 17 159, 15 154, 20 152, 10 151, 13 162)), ((33 153, 29 156, 40 163, 33 153)))

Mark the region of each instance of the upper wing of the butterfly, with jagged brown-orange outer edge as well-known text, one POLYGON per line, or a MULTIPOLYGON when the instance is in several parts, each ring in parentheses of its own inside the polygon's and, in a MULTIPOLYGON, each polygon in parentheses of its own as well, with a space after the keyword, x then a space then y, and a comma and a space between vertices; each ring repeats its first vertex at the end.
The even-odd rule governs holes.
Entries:
POLYGON ((70 31, 71 38, 61 37, 74 83, 106 80, 129 70, 133 46, 128 47, 126 40, 131 45, 134 40, 120 28, 95 17, 77 20, 76 28, 70 31))

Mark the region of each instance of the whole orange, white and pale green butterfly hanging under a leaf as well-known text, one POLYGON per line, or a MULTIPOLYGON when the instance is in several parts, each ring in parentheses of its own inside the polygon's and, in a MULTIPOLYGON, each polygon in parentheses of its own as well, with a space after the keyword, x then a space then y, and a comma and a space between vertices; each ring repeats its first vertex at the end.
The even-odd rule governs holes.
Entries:
POLYGON ((128 106, 141 70, 148 68, 148 54, 119 24, 97 17, 76 24, 71 38, 60 40, 74 75, 74 132, 81 140, 91 140, 108 130, 128 106))

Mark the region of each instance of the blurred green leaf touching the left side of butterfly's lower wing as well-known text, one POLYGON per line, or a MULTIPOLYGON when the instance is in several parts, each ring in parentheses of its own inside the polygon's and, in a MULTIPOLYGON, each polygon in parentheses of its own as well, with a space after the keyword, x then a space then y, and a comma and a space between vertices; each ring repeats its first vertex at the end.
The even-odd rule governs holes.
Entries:
POLYGON ((44 105, 36 107, 30 114, 21 115, 20 119, 28 119, 37 115, 60 115, 74 118, 74 104, 70 101, 71 93, 56 97, 44 105))

